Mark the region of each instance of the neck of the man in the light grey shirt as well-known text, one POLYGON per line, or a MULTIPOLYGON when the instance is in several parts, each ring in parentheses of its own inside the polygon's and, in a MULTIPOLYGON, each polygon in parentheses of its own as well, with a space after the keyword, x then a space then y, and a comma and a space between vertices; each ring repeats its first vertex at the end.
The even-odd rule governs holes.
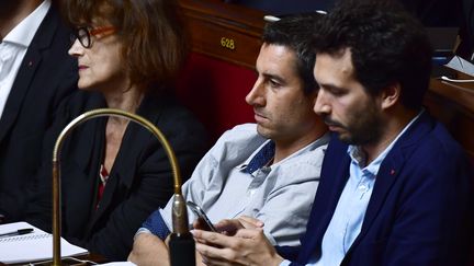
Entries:
POLYGON ((291 139, 273 139, 275 142, 275 154, 273 163, 278 163, 309 143, 316 141, 327 132, 323 123, 316 123, 309 130, 291 139))

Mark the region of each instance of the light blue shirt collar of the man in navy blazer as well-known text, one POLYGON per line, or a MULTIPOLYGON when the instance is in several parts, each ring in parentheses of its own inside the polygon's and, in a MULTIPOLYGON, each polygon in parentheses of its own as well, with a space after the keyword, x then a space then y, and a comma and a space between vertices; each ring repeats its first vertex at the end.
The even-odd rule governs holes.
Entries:
POLYGON ((405 131, 421 116, 421 114, 425 112, 425 109, 421 109, 417 116, 415 116, 415 118, 413 118, 405 127, 404 129, 396 136, 396 138, 388 144, 387 148, 385 148, 385 150, 379 154, 377 158, 375 158, 375 160, 373 160, 369 165, 366 165, 365 167, 361 167, 361 165, 364 164, 365 162, 365 153, 362 151, 362 149, 360 149, 359 146, 349 146, 347 153, 349 154, 349 157, 351 158, 351 163, 358 165, 360 169, 362 169, 362 171, 368 171, 369 173, 371 173, 373 176, 376 176, 379 173, 379 169, 383 162, 383 160, 385 160, 385 157, 388 154, 388 152, 392 150, 392 148, 394 147, 395 142, 399 139, 399 137, 402 137, 405 131))

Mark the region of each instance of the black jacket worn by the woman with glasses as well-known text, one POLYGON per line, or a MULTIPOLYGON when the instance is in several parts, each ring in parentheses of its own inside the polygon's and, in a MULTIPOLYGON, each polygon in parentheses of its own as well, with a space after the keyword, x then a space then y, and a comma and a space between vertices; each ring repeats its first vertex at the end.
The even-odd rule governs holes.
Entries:
MULTIPOLYGON (((49 231, 50 154, 58 132, 86 111, 105 107, 101 95, 79 91, 65 104, 48 137, 38 193, 31 200, 27 221, 49 231)), ((183 178, 188 178, 207 144, 202 125, 172 97, 145 96, 137 114, 150 120, 173 148, 183 178)), ((106 118, 77 127, 61 149, 63 234, 72 243, 111 261, 124 261, 142 222, 165 207, 173 193, 171 166, 165 149, 145 128, 128 124, 100 203, 99 171, 105 148, 106 118), (98 206, 98 208, 97 208, 98 206)))

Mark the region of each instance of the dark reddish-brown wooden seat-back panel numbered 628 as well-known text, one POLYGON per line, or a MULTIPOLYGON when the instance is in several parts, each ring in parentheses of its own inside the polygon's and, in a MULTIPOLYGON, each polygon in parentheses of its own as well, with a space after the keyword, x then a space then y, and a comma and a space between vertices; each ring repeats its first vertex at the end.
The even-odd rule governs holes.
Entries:
POLYGON ((253 69, 260 50, 263 13, 212 0, 179 1, 193 51, 253 69))

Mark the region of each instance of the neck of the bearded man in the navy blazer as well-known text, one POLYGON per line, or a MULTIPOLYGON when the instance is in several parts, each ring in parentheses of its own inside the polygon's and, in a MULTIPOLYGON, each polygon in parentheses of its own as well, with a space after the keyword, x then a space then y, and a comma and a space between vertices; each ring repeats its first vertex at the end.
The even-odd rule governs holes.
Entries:
POLYGON ((396 114, 388 114, 385 116, 387 123, 384 125, 385 130, 382 132, 379 140, 374 143, 361 146, 362 150, 366 154, 365 165, 369 165, 373 160, 375 160, 418 114, 416 111, 406 108, 395 111, 394 113, 396 114))

